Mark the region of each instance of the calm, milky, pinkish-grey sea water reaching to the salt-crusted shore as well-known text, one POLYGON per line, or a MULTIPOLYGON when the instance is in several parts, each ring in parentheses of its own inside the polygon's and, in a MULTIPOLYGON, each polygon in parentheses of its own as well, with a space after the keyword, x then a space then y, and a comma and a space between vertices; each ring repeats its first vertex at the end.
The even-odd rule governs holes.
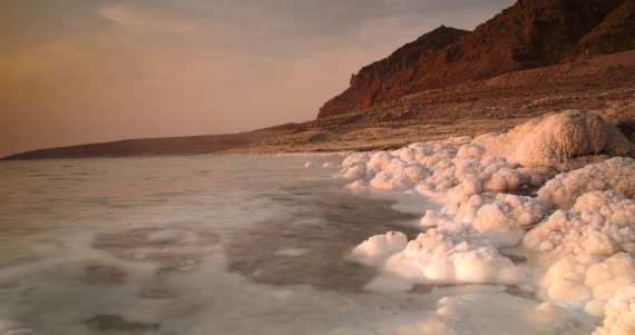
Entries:
POLYGON ((441 205, 344 188, 322 168, 342 159, 0 162, 0 335, 561 329, 512 287, 367 289, 378 269, 352 248, 390 230, 413 239, 441 205))

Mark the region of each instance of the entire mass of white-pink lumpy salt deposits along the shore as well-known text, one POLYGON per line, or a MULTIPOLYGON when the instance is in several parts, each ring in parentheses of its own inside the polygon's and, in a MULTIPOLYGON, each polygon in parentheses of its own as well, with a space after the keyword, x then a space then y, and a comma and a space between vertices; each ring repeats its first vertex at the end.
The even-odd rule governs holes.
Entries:
MULTIPOLYGON (((389 233, 354 249, 382 269, 375 282, 390 287, 384 282, 392 275, 421 284, 530 283, 544 308, 606 316, 596 334, 634 334, 635 160, 609 156, 632 156, 635 146, 584 111, 546 115, 463 142, 356 154, 335 176, 446 204, 427 211, 420 226, 428 230, 407 245, 389 233), (540 185, 536 198, 487 193, 540 185), (522 268, 531 274, 497 250, 516 246, 528 252, 531 266, 522 268)), ((569 316, 566 322, 575 322, 569 316)))

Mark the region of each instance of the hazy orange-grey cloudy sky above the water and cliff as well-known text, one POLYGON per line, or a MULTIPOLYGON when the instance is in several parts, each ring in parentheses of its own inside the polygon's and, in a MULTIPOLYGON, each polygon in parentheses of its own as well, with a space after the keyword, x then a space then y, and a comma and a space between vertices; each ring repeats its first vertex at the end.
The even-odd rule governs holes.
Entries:
POLYGON ((0 157, 315 119, 351 73, 512 0, 0 0, 0 157))

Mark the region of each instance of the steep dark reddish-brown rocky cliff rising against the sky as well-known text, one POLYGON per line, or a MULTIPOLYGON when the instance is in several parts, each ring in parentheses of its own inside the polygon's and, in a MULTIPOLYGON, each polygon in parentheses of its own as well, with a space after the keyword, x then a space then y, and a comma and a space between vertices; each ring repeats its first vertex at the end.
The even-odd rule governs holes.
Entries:
MULTIPOLYGON (((603 22, 613 18, 608 14, 615 11, 618 19, 614 21, 632 23, 631 7, 626 6, 632 1, 519 0, 472 32, 440 27, 389 58, 362 68, 351 78, 349 89, 324 104, 318 118, 428 89, 549 66, 587 55, 588 46, 597 50, 594 55, 609 53, 617 49, 602 41, 615 31, 615 23, 604 27, 603 22), (559 55, 566 57, 558 58, 559 55)), ((633 31, 628 24, 622 23, 627 32, 618 35, 615 41, 628 39, 628 31, 633 31)))

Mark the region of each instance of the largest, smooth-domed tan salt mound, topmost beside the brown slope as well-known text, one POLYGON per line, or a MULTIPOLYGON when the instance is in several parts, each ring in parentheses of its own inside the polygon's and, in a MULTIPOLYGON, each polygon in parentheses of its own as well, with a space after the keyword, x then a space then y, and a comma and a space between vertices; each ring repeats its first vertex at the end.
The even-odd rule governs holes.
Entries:
MULTIPOLYGON (((490 132, 477 137, 481 157, 500 155, 524 167, 551 167, 570 170, 609 156, 635 152, 633 145, 602 117, 582 110, 549 114, 529 120, 506 134, 490 132)), ((470 156, 479 150, 470 149, 470 156)), ((467 155, 467 152, 466 152, 467 155)))

